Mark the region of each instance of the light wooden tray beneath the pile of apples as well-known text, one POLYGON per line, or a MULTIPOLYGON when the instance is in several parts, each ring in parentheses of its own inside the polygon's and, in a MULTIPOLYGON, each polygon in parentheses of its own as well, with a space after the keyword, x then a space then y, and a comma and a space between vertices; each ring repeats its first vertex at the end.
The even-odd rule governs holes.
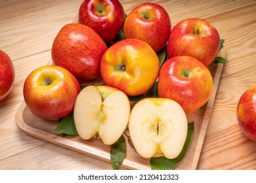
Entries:
MULTIPOLYGON (((221 52, 221 56, 225 57, 225 53, 221 52)), ((205 132, 215 101, 215 94, 223 70, 223 63, 211 64, 209 70, 213 75, 213 93, 203 110, 197 110, 187 115, 188 122, 194 122, 194 134, 186 156, 175 169, 196 169, 198 164, 205 132)), ((58 121, 48 121, 38 118, 30 112, 25 102, 18 108, 15 119, 18 127, 28 135, 53 142, 54 144, 70 148, 77 152, 104 159, 105 161, 110 161, 110 146, 106 146, 102 141, 96 139, 85 141, 79 136, 62 137, 60 133, 53 133, 52 131, 58 125, 58 121)), ((139 156, 127 142, 127 154, 123 161, 123 167, 127 169, 150 169, 149 161, 150 159, 139 156)))

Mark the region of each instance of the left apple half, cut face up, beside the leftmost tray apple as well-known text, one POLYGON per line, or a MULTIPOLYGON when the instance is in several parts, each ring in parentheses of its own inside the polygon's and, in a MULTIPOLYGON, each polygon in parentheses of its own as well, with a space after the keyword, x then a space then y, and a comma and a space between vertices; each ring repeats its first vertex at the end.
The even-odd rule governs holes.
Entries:
POLYGON ((82 139, 114 144, 125 131, 130 112, 125 93, 110 86, 87 86, 75 101, 75 127, 82 139))

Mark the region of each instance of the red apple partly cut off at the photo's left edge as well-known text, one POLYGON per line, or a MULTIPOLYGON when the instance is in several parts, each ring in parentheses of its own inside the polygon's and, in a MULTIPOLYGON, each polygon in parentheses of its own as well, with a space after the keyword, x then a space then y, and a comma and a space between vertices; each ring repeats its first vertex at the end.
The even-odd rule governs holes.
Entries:
POLYGON ((11 58, 0 50, 0 101, 11 92, 15 80, 15 69, 11 58))

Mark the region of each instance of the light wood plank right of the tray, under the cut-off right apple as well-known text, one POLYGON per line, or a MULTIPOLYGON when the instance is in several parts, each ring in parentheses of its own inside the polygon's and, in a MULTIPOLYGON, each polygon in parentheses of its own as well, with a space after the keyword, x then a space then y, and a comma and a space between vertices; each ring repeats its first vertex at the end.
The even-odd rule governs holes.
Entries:
POLYGON ((198 169, 256 169, 256 143, 244 136, 236 120, 238 100, 253 85, 256 66, 221 79, 198 169))

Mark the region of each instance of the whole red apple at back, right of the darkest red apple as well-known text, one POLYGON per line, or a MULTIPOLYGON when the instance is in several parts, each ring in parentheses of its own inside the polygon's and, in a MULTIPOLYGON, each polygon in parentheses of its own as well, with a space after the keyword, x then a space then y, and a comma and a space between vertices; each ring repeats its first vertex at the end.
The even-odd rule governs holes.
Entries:
POLYGON ((125 18, 123 32, 126 39, 147 42, 155 52, 165 46, 171 32, 171 20, 166 10, 156 3, 142 3, 125 18))

